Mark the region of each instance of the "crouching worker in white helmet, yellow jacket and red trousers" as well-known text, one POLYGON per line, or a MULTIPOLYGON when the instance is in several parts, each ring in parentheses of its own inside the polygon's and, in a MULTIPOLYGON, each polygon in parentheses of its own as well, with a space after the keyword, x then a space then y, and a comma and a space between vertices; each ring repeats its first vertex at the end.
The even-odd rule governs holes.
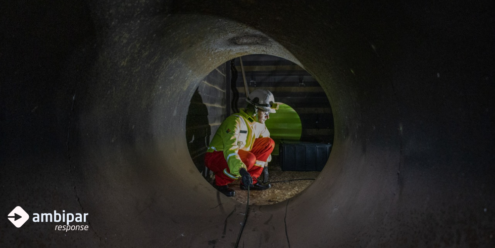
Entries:
POLYGON ((265 121, 278 105, 272 92, 256 89, 246 97, 248 106, 222 122, 205 156, 205 165, 215 173, 216 188, 227 196, 235 190, 227 184, 241 178, 241 189, 265 190, 270 183, 258 181, 275 142, 265 121))

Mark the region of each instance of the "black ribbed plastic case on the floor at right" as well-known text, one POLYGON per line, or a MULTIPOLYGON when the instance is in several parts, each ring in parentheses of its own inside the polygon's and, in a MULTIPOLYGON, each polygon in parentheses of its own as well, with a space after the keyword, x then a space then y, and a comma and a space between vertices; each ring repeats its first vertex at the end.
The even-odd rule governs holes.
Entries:
POLYGON ((283 140, 279 146, 282 171, 321 171, 328 161, 332 144, 283 140))

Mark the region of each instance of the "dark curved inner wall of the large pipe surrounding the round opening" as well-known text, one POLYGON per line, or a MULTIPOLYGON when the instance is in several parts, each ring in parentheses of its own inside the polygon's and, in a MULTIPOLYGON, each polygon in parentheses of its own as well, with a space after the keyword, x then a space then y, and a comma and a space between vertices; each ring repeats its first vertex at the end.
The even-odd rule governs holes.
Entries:
POLYGON ((335 140, 310 187, 250 208, 244 247, 495 244, 491 2, 10 5, 2 213, 90 230, 3 221, 2 246, 233 246, 244 208, 195 170, 185 118, 204 76, 260 53, 320 82, 335 140))

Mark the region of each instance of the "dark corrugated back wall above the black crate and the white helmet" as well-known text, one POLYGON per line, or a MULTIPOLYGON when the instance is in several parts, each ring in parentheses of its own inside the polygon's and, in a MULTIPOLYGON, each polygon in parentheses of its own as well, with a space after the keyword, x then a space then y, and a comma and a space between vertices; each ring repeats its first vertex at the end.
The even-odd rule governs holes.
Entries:
MULTIPOLYGON (((270 55, 243 56, 242 62, 250 92, 270 90, 276 102, 292 107, 302 123, 301 140, 333 142, 333 117, 328 98, 320 84, 300 66, 270 55)), ((245 90, 239 59, 235 59, 239 91, 238 107, 245 107, 245 90)))

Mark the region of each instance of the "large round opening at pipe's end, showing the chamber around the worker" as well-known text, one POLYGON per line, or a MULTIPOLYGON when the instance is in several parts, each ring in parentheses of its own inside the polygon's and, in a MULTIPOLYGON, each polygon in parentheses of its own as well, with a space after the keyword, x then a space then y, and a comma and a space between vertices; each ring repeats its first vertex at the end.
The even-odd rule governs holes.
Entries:
MULTIPOLYGON (((327 163, 333 143, 331 107, 321 85, 299 65, 270 55, 247 55, 242 61, 243 68, 239 58, 221 64, 195 89, 186 117, 188 151, 197 170, 214 185, 215 173, 204 161, 211 139, 228 116, 245 108, 245 86, 250 92, 270 90, 282 105, 266 121, 275 148, 269 176, 265 180, 262 173, 260 181, 274 183, 270 189, 252 191, 250 204, 279 203, 303 191, 327 163)), ((245 203, 239 180, 228 185, 236 191, 233 199, 245 203)))

